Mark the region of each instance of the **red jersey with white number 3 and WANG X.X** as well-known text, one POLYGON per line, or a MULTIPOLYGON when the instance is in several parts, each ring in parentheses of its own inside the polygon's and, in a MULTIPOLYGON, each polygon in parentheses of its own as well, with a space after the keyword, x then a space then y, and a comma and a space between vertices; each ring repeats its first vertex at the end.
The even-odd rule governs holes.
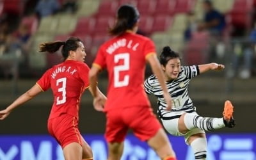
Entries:
POLYGON ((81 95, 89 86, 89 70, 83 62, 67 60, 47 70, 36 82, 43 91, 52 89, 54 102, 49 119, 61 113, 78 118, 81 95))

